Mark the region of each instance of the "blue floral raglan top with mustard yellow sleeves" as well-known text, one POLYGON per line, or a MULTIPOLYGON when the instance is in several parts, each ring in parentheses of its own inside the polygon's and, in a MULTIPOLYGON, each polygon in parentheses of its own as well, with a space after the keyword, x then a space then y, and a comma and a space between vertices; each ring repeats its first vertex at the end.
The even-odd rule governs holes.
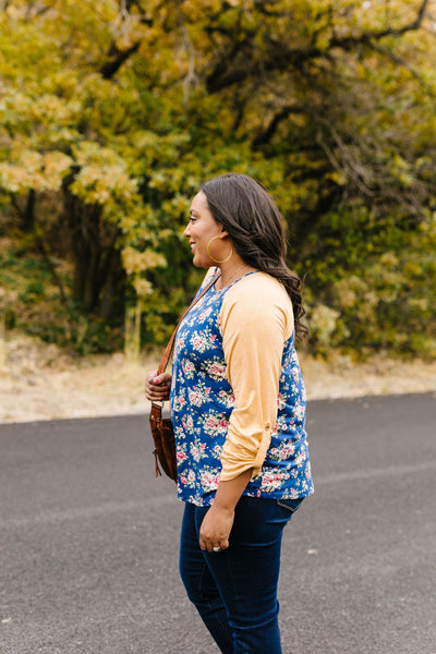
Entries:
POLYGON ((253 468, 244 495, 313 493, 305 389, 289 296, 250 272, 211 287, 183 318, 174 344, 171 413, 178 496, 208 506, 221 480, 253 468))

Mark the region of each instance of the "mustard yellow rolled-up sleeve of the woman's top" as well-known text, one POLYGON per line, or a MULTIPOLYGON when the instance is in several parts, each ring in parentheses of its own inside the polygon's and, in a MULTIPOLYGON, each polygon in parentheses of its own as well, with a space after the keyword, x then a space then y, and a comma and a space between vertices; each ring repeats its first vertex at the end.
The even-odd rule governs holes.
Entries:
POLYGON ((221 455, 220 479, 229 481, 250 468, 255 476, 265 460, 277 421, 283 344, 293 330, 292 304, 280 282, 256 272, 227 292, 220 322, 235 398, 221 455))

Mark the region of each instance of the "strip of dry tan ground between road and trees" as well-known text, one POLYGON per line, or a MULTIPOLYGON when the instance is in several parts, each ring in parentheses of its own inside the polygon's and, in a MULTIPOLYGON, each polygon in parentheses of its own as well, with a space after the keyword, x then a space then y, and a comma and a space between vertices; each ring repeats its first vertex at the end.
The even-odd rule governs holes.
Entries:
MULTIPOLYGON (((301 355, 307 398, 435 391, 436 362, 372 359, 355 364, 301 355)), ((117 415, 147 411, 144 377, 156 358, 123 354, 75 359, 28 337, 0 340, 0 422, 117 415)), ((435 396, 436 397, 436 396, 435 396)))

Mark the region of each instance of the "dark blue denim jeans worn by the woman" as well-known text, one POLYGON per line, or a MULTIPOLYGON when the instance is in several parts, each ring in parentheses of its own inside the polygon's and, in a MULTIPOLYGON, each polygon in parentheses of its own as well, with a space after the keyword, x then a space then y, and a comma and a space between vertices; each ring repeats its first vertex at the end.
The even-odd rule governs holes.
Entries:
POLYGON ((301 499, 239 500, 228 549, 207 553, 198 534, 207 507, 186 502, 180 573, 223 654, 281 654, 277 584, 283 528, 301 499))

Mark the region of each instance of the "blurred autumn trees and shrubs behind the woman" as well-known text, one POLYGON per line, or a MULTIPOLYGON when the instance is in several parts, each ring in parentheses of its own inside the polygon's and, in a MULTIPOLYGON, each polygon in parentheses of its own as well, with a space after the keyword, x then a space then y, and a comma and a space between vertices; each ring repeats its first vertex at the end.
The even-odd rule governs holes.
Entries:
POLYGON ((310 350, 436 359, 436 2, 0 1, 0 314, 162 343, 206 179, 277 199, 310 350))

